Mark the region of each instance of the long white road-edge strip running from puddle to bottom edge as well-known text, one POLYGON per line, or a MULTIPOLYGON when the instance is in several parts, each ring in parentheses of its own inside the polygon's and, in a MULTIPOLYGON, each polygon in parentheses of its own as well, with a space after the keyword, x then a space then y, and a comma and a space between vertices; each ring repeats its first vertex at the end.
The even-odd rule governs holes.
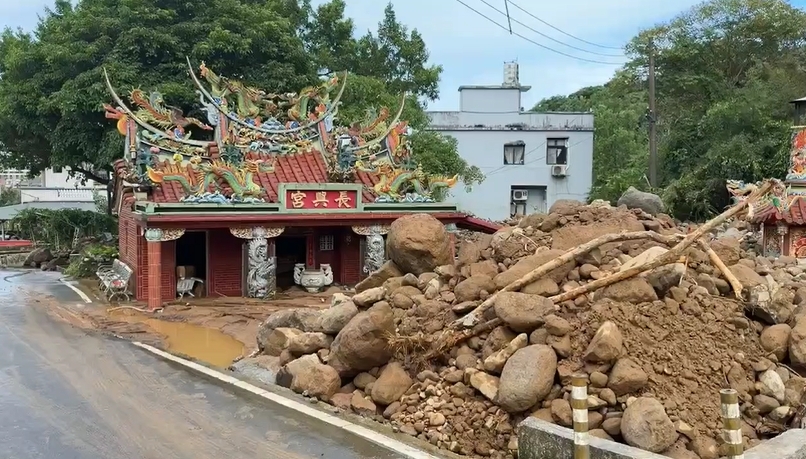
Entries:
POLYGON ((402 441, 396 440, 382 433, 376 432, 370 428, 341 419, 337 416, 318 410, 316 408, 313 408, 309 405, 298 402, 296 400, 290 399, 288 397, 284 397, 280 394, 276 394, 266 389, 261 389, 260 387, 254 384, 242 381, 234 376, 230 376, 220 371, 213 370, 204 365, 200 365, 196 362, 192 362, 182 357, 175 356, 171 353, 157 349, 154 346, 150 346, 148 344, 144 344, 139 341, 135 341, 132 344, 164 360, 173 362, 177 365, 181 365, 182 367, 184 367, 189 371, 213 379, 219 384, 230 386, 231 388, 236 390, 246 391, 254 396, 260 397, 271 403, 284 406, 290 410, 296 411, 299 414, 303 414, 310 418, 316 419, 317 421, 324 422, 338 429, 350 432, 353 435, 363 438, 364 440, 374 443, 382 448, 400 454, 401 456, 406 457, 408 459, 442 459, 440 458, 440 456, 432 455, 426 451, 417 449, 411 445, 408 445, 402 441))

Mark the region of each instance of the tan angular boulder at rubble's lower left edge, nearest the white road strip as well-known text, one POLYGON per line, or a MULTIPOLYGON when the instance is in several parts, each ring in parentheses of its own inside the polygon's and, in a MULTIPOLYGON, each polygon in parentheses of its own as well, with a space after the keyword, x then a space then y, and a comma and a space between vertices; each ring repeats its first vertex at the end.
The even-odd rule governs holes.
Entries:
POLYGON ((335 369, 309 354, 285 364, 277 375, 277 384, 299 394, 329 400, 341 387, 341 378, 335 369))

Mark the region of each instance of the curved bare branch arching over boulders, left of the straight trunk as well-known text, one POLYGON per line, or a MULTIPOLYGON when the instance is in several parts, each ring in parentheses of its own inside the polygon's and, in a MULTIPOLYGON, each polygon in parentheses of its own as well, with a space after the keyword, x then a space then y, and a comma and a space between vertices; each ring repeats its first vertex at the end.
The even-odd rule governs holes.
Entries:
POLYGON ((470 311, 470 313, 468 313, 466 316, 457 319, 451 325, 451 328, 458 328, 458 327, 469 328, 476 325, 477 323, 479 323, 482 314, 484 314, 484 311, 489 309, 495 303, 495 299, 501 292, 512 292, 520 290, 521 288, 531 284, 532 282, 539 280, 541 277, 545 276, 551 271, 574 260, 576 257, 584 255, 601 245, 610 242, 632 241, 636 239, 652 239, 653 241, 660 242, 661 244, 672 244, 674 242, 679 241, 682 238, 683 238, 682 234, 663 236, 654 231, 614 233, 614 234, 605 234, 604 236, 597 237, 596 239, 593 239, 578 247, 570 249, 561 256, 549 261, 548 263, 540 265, 537 268, 533 269, 532 271, 529 271, 520 279, 517 279, 516 281, 512 282, 511 284, 507 285, 506 287, 502 288, 501 290, 499 290, 498 292, 494 293, 489 298, 484 300, 484 302, 478 305, 476 309, 470 311))

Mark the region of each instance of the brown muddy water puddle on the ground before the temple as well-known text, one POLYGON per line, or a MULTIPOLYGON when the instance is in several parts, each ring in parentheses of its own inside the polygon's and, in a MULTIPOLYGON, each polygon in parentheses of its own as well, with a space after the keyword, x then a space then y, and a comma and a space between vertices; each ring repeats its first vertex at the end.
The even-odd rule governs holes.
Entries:
POLYGON ((109 317, 121 322, 145 324, 164 338, 167 351, 219 368, 228 367, 245 350, 243 343, 212 328, 154 319, 129 310, 112 311, 109 317))

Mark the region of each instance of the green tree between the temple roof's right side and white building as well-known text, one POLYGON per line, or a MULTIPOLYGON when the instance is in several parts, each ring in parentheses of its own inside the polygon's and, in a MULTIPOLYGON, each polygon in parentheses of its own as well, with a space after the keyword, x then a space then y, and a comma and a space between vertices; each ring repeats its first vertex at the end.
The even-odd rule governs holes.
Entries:
POLYGON ((439 96, 442 67, 428 63, 428 49, 420 33, 409 31, 397 20, 389 3, 376 33, 355 38, 353 21, 344 16, 344 0, 332 0, 316 10, 305 2, 309 19, 303 36, 321 74, 336 70, 351 73, 340 109, 342 122, 365 118, 381 106, 391 110, 407 94, 403 119, 414 129, 412 150, 423 169, 439 175, 458 174, 466 186, 484 179, 480 169, 462 160, 456 142, 447 136, 425 130, 424 109, 439 96))

